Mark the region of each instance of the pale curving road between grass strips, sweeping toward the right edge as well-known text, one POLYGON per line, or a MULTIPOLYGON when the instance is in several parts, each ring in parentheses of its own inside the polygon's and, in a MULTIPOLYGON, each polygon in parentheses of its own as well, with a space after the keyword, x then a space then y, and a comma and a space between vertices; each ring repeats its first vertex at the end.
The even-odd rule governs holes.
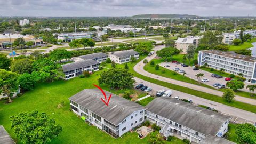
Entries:
MULTIPOLYGON (((154 50, 156 52, 158 50, 163 49, 163 47, 164 46, 156 46, 154 48, 154 50)), ((146 57, 145 59, 150 61, 150 60, 154 59, 155 57, 156 57, 156 53, 154 53, 150 57, 146 57)), ((147 77, 151 77, 151 78, 158 79, 160 81, 164 81, 164 82, 167 82, 167 83, 172 83, 172 84, 175 84, 175 85, 180 85, 180 86, 188 87, 190 89, 197 90, 197 91, 202 91, 202 92, 206 92, 206 93, 212 93, 214 95, 222 97, 223 92, 221 92, 221 91, 209 89, 209 88, 206 88, 206 87, 203 87, 203 86, 198 86, 198 85, 194 85, 194 84, 190 84, 190 83, 186 83, 186 82, 177 81, 175 79, 171 79, 171 78, 167 78, 167 77, 162 77, 162 76, 158 76, 158 75, 155 75, 155 74, 151 74, 148 71, 143 69, 144 66, 145 66, 145 64, 143 64, 143 60, 141 60, 139 63, 137 63, 137 65, 135 65, 133 67, 133 69, 137 73, 139 73, 141 75, 144 75, 144 76, 147 76, 147 77)), ((241 102, 244 102, 244 103, 249 103, 249 104, 252 104, 252 105, 256 105, 256 100, 255 99, 245 98, 245 97, 241 97, 241 96, 238 96, 238 95, 235 95, 235 96, 236 96, 235 100, 237 100, 237 101, 241 101, 241 102)))

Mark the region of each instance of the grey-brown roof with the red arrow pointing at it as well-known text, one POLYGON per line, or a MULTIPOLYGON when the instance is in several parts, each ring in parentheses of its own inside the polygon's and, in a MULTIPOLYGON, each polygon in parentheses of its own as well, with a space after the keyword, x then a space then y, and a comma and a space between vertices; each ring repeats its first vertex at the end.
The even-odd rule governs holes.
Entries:
MULTIPOLYGON (((105 93, 107 97, 111 94, 108 91, 105 91, 105 93)), ((146 109, 138 103, 115 94, 112 94, 108 106, 100 98, 105 99, 99 89, 85 89, 70 97, 69 100, 91 110, 116 126, 134 111, 146 109)))

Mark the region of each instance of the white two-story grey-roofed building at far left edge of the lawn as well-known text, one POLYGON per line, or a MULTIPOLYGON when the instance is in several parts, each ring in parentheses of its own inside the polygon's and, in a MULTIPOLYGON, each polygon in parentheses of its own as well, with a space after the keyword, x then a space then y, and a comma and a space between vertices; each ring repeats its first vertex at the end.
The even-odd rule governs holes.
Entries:
POLYGON ((82 75, 84 71, 98 71, 99 62, 95 60, 81 60, 62 65, 62 69, 65 74, 64 79, 67 80, 82 75))

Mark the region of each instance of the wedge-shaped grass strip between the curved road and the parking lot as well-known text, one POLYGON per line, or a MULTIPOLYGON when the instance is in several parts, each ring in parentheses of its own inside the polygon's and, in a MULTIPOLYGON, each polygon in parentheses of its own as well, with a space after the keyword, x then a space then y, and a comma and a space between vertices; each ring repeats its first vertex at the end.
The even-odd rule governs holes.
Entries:
MULTIPOLYGON (((155 66, 157 64, 159 64, 159 63, 164 62, 163 59, 153 59, 153 61, 155 62, 155 66)), ((144 69, 146 71, 148 71, 149 73, 151 73, 151 74, 155 74, 155 75, 159 75, 159 76, 175 79, 175 80, 178 80, 178 81, 182 81, 182 82, 186 82, 186 83, 190 83, 190 84, 195 84, 195 85, 200 85, 200 86, 204 86, 204 87, 207 87, 207 88, 210 88, 210 89, 214 89, 212 86, 209 86, 209 85, 206 85, 206 84, 203 84, 203 83, 198 84, 198 81, 195 81, 194 79, 186 77, 186 75, 183 76, 183 75, 181 75, 181 74, 179 74, 177 72, 174 73, 174 71, 169 70, 169 69, 164 68, 164 67, 160 67, 159 70, 155 70, 155 66, 151 66, 150 62, 148 62, 144 66, 144 69), (165 73, 162 73, 162 70, 165 70, 165 73)))

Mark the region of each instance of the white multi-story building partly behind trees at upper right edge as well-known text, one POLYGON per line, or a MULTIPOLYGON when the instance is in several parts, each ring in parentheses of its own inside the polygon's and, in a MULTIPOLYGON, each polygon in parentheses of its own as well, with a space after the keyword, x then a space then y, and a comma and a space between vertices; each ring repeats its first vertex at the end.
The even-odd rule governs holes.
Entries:
MULTIPOLYGON (((249 34, 252 37, 256 36, 256 30, 245 30, 243 31, 243 35, 249 34)), ((234 39, 240 38, 240 30, 235 31, 234 33, 223 33, 222 42, 225 44, 232 44, 234 39)))

